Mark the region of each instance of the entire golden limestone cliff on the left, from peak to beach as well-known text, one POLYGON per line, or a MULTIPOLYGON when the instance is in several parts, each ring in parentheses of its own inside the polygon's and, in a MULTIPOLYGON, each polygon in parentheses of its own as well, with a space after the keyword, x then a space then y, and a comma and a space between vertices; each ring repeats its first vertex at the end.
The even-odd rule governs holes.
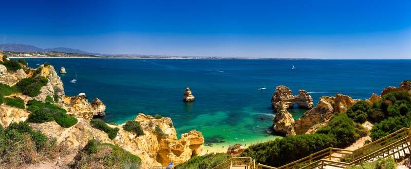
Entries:
MULTIPOLYGON (((2 65, 0 65, 1 67, 2 65)), ((57 139, 58 144, 65 145, 69 152, 77 152, 86 145, 88 140, 96 139, 104 143, 112 143, 122 147, 124 150, 142 159, 142 168, 150 166, 167 165, 170 162, 179 164, 189 160, 191 157, 199 155, 203 149, 204 137, 198 131, 192 130, 181 134, 177 139, 177 133, 170 118, 154 118, 149 115, 140 114, 134 120, 139 121, 143 130, 143 135, 137 136, 123 130, 123 125, 110 125, 111 128, 119 128, 117 136, 111 140, 107 133, 92 128, 90 119, 95 116, 102 116, 105 112, 104 103, 96 98, 88 102, 85 94, 78 96, 65 96, 63 83, 52 66, 40 66, 41 76, 47 77, 48 83, 41 88, 41 93, 36 97, 29 97, 21 93, 12 94, 6 97, 20 97, 25 104, 36 99, 45 101, 47 96, 57 95, 55 105, 67 111, 67 114, 77 117, 78 122, 69 128, 62 128, 55 121, 45 123, 30 123, 30 125, 43 132, 48 137, 57 139), (158 128, 158 129, 157 129, 158 128), (159 132, 161 131, 161 132, 159 132)), ((29 77, 35 70, 27 71, 29 77)), ((10 73, 10 72, 4 72, 10 73)), ((22 76, 23 77, 23 76, 22 76)), ((9 78, 10 79, 10 78, 9 78)), ((12 80, 9 80, 12 81, 12 80)), ((17 81, 6 83, 0 79, 0 83, 12 85, 17 81)), ((6 127, 12 121, 26 121, 29 111, 0 105, 0 124, 6 127)))

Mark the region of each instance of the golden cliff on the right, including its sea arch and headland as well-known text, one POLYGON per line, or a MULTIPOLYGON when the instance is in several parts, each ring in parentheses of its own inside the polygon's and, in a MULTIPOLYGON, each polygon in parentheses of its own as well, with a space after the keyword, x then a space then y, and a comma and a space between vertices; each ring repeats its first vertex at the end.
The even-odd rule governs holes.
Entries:
POLYGON ((312 98, 307 91, 300 90, 298 95, 294 96, 288 87, 278 86, 271 99, 271 105, 276 111, 273 118, 273 129, 287 136, 313 133, 326 125, 334 113, 345 112, 355 102, 356 100, 349 96, 337 94, 320 98, 316 107, 313 107, 312 98), (287 111, 294 104, 300 108, 309 109, 297 120, 294 120, 287 111))

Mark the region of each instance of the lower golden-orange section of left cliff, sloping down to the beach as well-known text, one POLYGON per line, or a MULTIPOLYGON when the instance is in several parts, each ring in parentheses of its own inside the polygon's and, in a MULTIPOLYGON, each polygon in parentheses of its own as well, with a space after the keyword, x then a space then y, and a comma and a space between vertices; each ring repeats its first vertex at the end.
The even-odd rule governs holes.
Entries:
POLYGON ((90 139, 116 144, 124 150, 142 159, 142 168, 150 166, 167 165, 173 162, 175 165, 189 160, 192 156, 202 151, 204 137, 198 131, 190 131, 177 139, 177 133, 170 118, 155 119, 144 114, 138 115, 134 120, 139 121, 144 135, 136 136, 134 133, 124 131, 119 126, 109 125, 111 128, 119 128, 117 137, 110 140, 106 133, 94 129, 89 121, 78 118, 79 122, 70 128, 61 128, 54 121, 41 124, 30 124, 33 128, 42 131, 49 137, 57 138, 58 143, 67 145, 70 150, 81 149, 90 139), (156 133, 156 126, 165 135, 156 133))

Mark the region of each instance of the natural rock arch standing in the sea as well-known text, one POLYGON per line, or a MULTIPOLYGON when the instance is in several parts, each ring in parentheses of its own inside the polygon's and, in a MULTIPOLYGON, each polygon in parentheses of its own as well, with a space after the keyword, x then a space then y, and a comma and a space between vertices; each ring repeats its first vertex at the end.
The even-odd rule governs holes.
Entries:
POLYGON ((305 90, 299 90, 298 95, 292 95, 290 88, 286 86, 278 86, 275 88, 274 94, 271 98, 271 106, 275 110, 282 108, 288 109, 294 104, 297 104, 299 108, 312 109, 314 104, 312 97, 305 90))

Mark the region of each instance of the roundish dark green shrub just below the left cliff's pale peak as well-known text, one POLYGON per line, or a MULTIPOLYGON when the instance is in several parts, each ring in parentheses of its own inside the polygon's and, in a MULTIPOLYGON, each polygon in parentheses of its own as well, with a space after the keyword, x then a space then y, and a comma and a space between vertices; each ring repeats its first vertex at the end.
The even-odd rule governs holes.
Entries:
POLYGON ((43 76, 30 77, 17 82, 16 86, 23 94, 35 97, 41 93, 40 89, 47 85, 48 79, 43 76))

